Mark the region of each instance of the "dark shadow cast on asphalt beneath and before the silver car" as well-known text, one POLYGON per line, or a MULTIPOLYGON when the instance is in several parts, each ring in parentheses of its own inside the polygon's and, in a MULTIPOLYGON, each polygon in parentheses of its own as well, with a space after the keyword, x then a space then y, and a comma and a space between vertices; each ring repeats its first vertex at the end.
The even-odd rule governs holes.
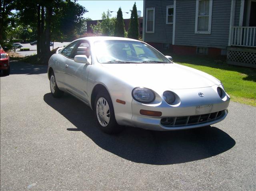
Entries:
POLYGON ((98 129, 92 110, 76 98, 64 94, 56 99, 47 93, 44 101, 76 126, 67 130, 81 131, 102 149, 136 163, 166 165, 195 161, 221 154, 236 144, 214 126, 169 132, 125 127, 120 134, 108 135, 98 129))

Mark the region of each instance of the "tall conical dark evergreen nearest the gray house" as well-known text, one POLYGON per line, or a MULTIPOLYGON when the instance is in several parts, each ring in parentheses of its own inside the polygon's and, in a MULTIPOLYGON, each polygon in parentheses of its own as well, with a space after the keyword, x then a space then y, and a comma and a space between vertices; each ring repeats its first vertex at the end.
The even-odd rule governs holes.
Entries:
POLYGON ((139 22, 138 22, 138 13, 136 8, 136 2, 132 7, 131 19, 128 28, 128 38, 133 38, 138 40, 139 37, 139 22))

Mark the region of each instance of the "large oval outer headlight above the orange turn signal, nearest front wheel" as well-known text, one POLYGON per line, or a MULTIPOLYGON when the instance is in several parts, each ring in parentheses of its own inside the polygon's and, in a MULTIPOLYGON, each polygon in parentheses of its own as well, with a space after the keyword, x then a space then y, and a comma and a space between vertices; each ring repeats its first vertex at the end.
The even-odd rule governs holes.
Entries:
POLYGON ((144 87, 137 87, 132 90, 132 97, 142 103, 150 103, 154 101, 155 95, 151 89, 144 87))

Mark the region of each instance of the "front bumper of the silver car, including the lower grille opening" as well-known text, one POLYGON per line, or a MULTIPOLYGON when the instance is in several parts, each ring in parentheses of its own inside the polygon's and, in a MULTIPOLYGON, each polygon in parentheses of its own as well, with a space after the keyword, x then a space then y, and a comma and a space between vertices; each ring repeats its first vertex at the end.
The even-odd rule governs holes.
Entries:
POLYGON ((188 94, 185 90, 176 91, 181 101, 175 106, 168 105, 164 100, 158 104, 142 104, 132 100, 133 126, 158 131, 182 130, 212 125, 226 118, 230 102, 227 94, 222 99, 217 97, 218 94, 200 98, 197 95, 197 89, 191 91, 188 100, 183 98, 183 95, 188 94), (140 114, 140 110, 162 112, 162 115, 160 117, 146 116, 140 114))

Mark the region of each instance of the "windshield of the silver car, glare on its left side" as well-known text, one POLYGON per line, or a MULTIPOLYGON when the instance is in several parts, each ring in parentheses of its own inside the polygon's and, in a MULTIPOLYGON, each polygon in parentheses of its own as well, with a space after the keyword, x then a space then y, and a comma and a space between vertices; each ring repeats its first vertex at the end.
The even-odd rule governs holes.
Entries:
POLYGON ((94 43, 100 63, 172 63, 161 53, 139 41, 106 40, 94 43))

